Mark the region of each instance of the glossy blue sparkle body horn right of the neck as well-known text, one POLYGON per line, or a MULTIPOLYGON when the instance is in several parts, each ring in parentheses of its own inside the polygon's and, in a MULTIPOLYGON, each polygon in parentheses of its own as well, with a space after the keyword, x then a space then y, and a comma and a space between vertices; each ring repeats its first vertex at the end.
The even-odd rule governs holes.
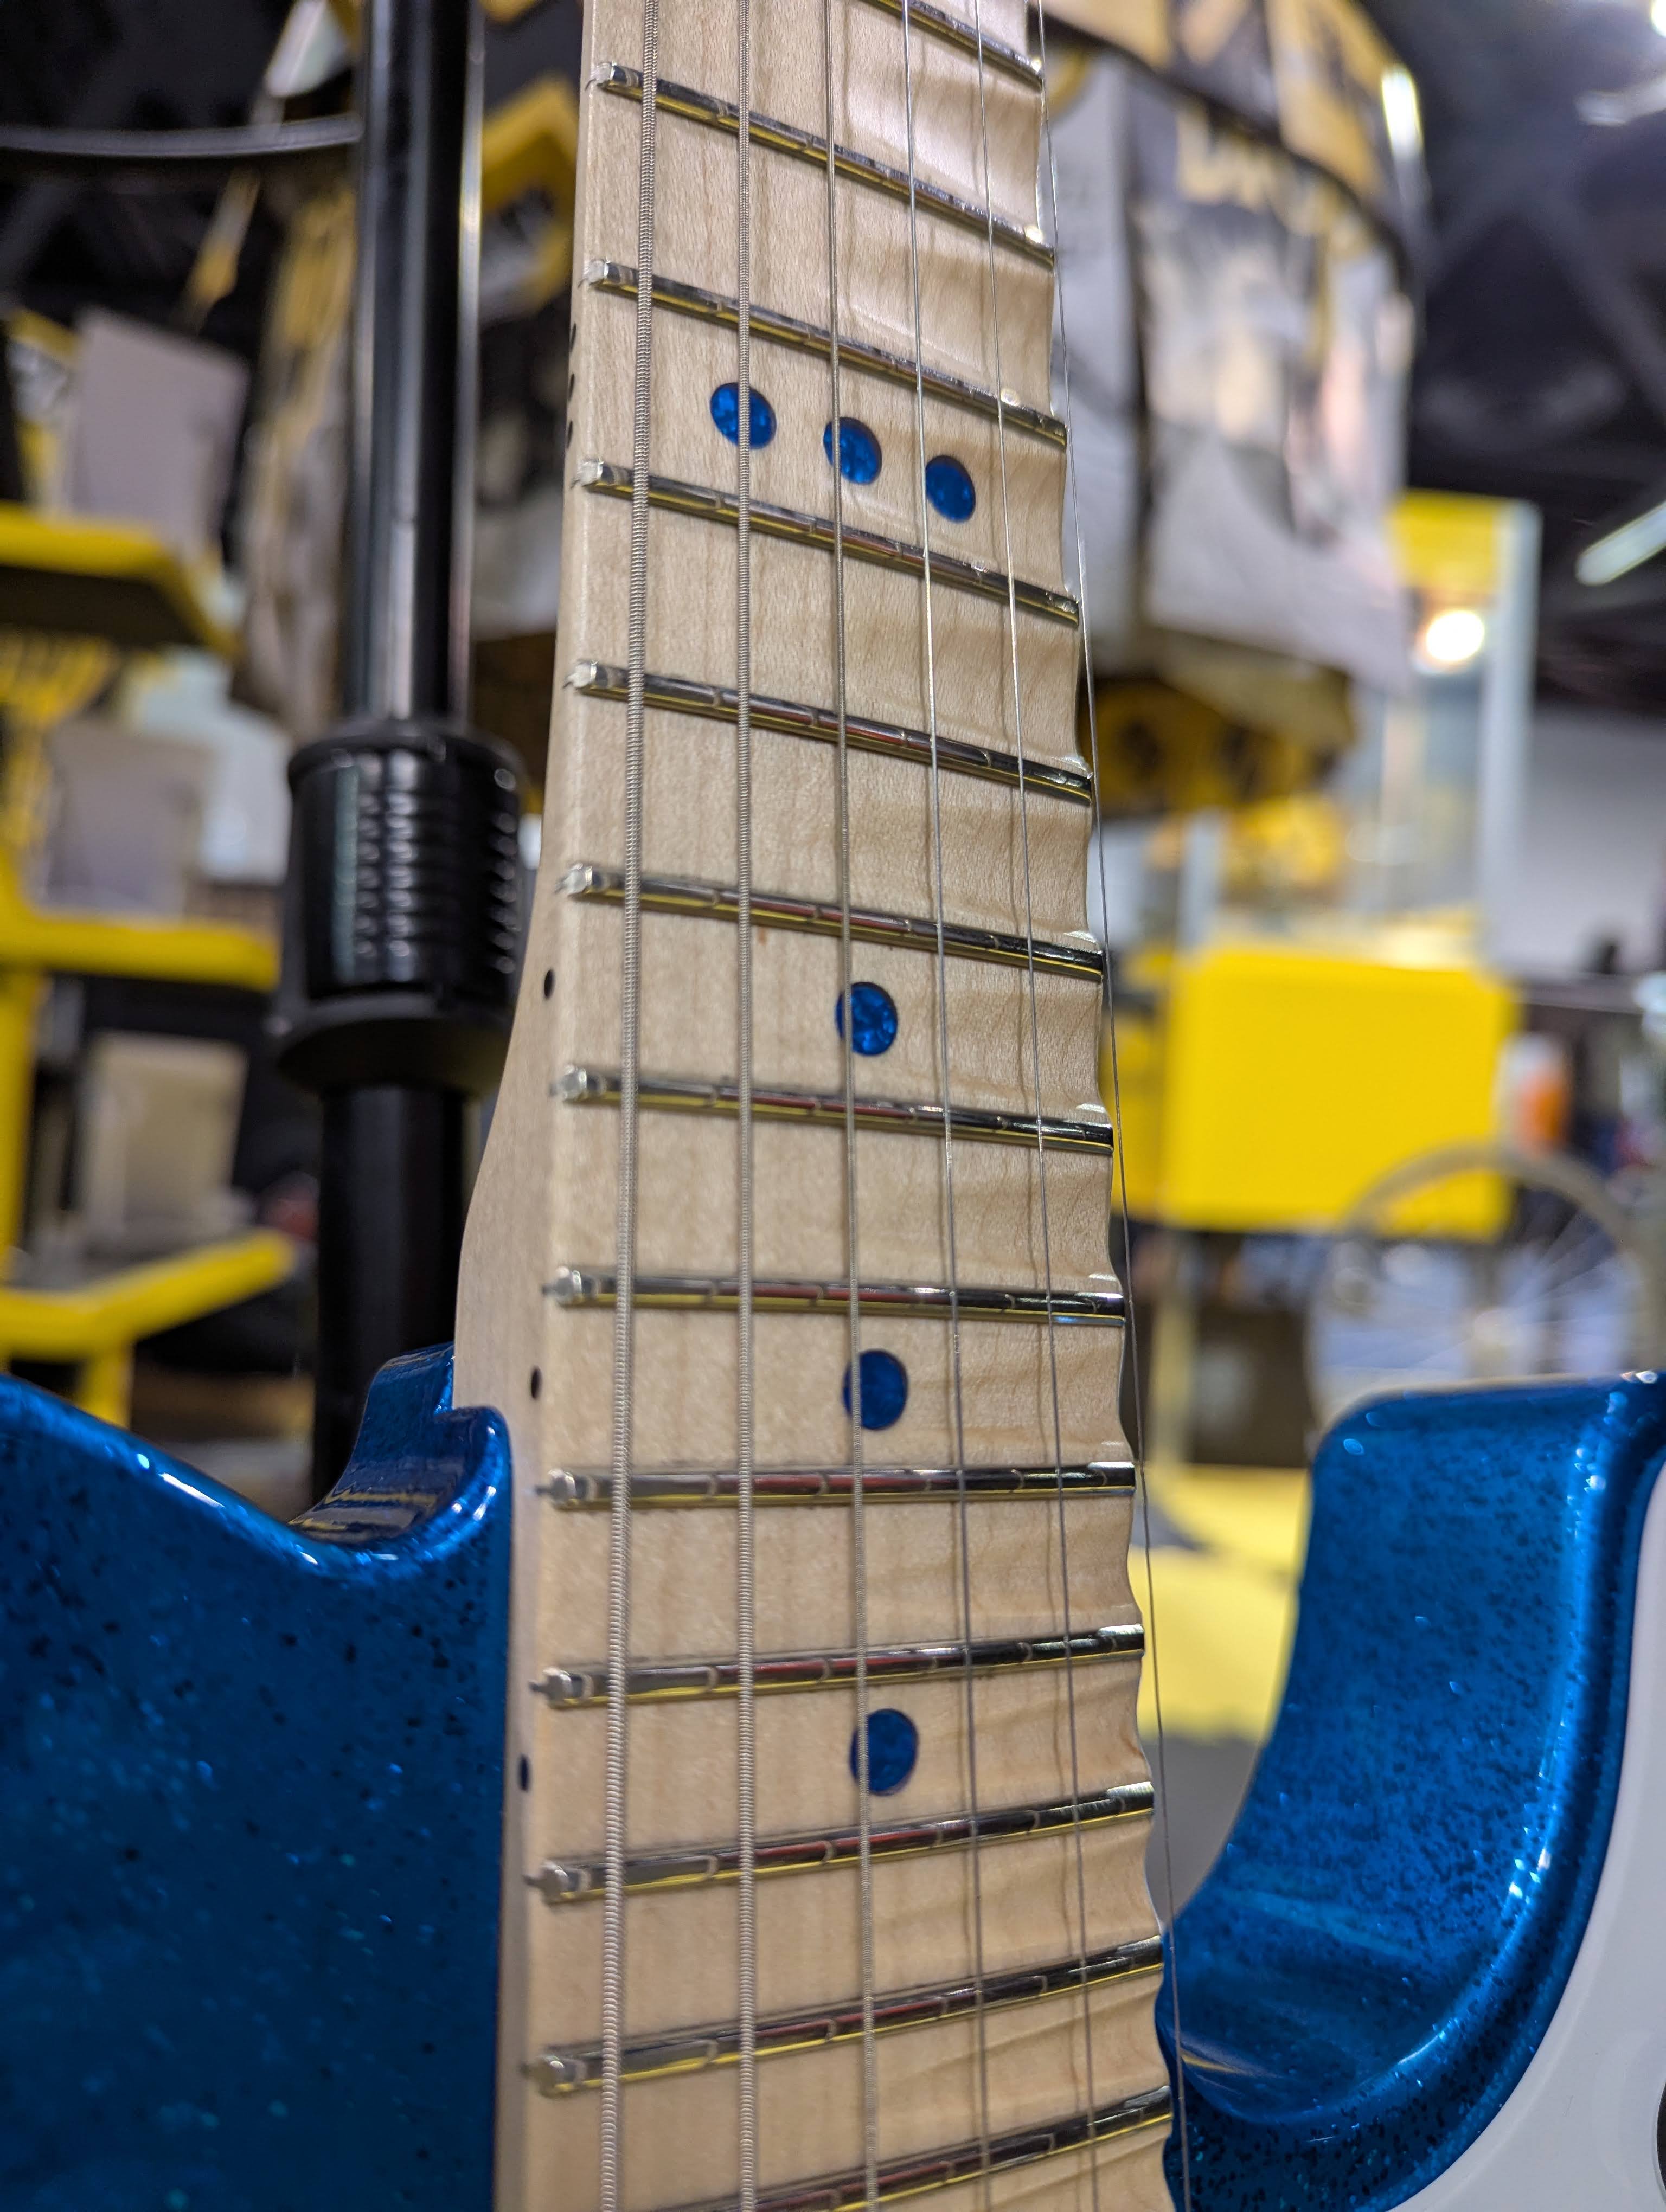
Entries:
POLYGON ((1662 1453, 1655 1376, 1325 1438, 1283 1712, 1175 1929, 1197 2212, 1398 2205, 1520 2081, 1608 1845, 1662 1453))

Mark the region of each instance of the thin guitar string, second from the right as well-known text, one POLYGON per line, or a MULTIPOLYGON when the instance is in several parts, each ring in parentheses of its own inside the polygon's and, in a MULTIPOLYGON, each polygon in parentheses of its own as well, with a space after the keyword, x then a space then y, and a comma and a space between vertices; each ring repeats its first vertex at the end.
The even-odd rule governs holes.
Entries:
MULTIPOLYGON (((907 0, 903 0, 903 7, 907 9, 907 0)), ((1093 1984, 1089 1980, 1089 1885, 1086 1885, 1086 1843, 1082 1836, 1082 1752, 1080 1752, 1080 1730, 1075 1712, 1075 1661, 1071 1659, 1071 1540, 1069 1540, 1069 1513, 1064 1502, 1064 1420, 1060 1413, 1060 1387, 1058 1387, 1058 1323, 1053 1318, 1053 1232, 1051 1232, 1051 1214, 1047 1199, 1047 1133, 1042 1117, 1042 1020, 1040 1020, 1040 1000, 1035 989, 1035 900, 1033 900, 1031 856, 1029 856, 1029 772, 1027 772, 1029 763, 1024 754, 1024 690, 1018 668, 1018 584, 1013 564, 1011 487, 1007 476, 1007 378, 1000 358, 1000 276, 996 261, 996 195, 989 175, 989 84, 985 73, 982 0, 971 0, 971 22, 978 40, 978 115, 982 124, 982 201, 987 219, 987 261, 989 261, 989 343, 993 349, 996 449, 1000 456, 1000 529, 1002 529, 1002 551, 1004 551, 1002 566, 1007 571, 1007 639, 1011 650, 1013 752, 1018 757, 1018 830, 1022 841, 1022 876, 1024 876, 1024 945, 1029 953, 1027 958, 1029 1073, 1031 1073, 1031 1088, 1035 1093, 1035 1181, 1038 1181, 1038 1210, 1040 1210, 1040 1232, 1042 1232, 1042 1283, 1047 1290, 1047 1380, 1049 1380, 1051 1413, 1053 1413, 1053 1469, 1058 1478, 1060 1621, 1064 1628, 1064 1652, 1066 1652, 1064 1712, 1069 1721, 1069 1752, 1071 1752, 1075 1929, 1077 1929, 1077 1960, 1082 1969, 1082 2070, 1084 2070, 1086 2104, 1089 2110, 1093 2110, 1097 2104, 1093 2093, 1093 1984)), ((1093 2212, 1097 2212, 1100 2208, 1097 2157, 1089 2159, 1089 2194, 1093 2201, 1093 2212)))

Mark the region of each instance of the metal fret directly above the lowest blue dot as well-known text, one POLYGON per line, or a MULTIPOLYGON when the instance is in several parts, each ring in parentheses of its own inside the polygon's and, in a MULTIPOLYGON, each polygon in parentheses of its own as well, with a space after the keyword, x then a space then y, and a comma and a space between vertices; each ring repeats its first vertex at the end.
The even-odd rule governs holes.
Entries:
MULTIPOLYGON (((1077 1628, 1069 1637, 982 1637, 969 1644, 878 1644, 867 1652, 867 1679, 885 1688, 938 1677, 1013 1674, 1022 1668, 1089 1666, 1095 1659, 1139 1659, 1146 1632, 1139 1621, 1077 1628)), ((856 1652, 777 1652, 754 1661, 752 1681, 763 1697, 783 1690, 847 1690, 856 1681, 856 1652)), ((606 1661, 551 1666, 533 1683, 555 1712, 606 1705, 606 1661)), ((635 1659, 624 1694, 633 1705, 688 1703, 739 1697, 741 1668, 732 1659, 635 1659)))

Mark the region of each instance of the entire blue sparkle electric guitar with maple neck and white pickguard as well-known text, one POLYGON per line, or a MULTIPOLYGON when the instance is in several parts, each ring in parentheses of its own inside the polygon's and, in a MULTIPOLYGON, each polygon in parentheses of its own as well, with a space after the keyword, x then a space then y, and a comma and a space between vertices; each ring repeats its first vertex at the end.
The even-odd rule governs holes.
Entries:
POLYGON ((456 1367, 290 1528, 0 1385, 0 2208, 1655 2203, 1653 1378, 1327 1440, 1164 1980, 1022 4, 582 108, 456 1367))

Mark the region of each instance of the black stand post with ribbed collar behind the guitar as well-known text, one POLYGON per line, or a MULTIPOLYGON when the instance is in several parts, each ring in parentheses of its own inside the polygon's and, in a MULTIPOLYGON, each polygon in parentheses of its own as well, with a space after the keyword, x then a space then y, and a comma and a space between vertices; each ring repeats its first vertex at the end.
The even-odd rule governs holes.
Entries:
POLYGON ((454 1334, 467 1108, 502 1068, 520 772, 467 728, 478 9, 367 0, 341 723, 290 763, 279 1064, 323 1102, 314 1495, 454 1334))

